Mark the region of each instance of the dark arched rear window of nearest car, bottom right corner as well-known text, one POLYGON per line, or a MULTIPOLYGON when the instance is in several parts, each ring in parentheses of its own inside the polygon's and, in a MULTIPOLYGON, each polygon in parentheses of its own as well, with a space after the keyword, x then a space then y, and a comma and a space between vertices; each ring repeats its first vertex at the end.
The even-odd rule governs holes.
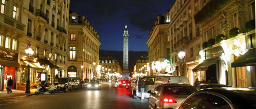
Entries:
POLYGON ((206 106, 214 109, 231 109, 229 103, 227 103, 224 99, 212 94, 208 94, 204 102, 199 105, 199 109, 204 109, 206 106))

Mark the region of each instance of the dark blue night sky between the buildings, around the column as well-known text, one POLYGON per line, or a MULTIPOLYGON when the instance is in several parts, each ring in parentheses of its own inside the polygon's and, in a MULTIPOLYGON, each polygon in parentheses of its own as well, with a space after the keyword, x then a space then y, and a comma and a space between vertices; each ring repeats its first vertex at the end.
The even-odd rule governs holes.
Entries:
POLYGON ((148 51, 148 34, 157 15, 163 16, 173 0, 70 0, 70 9, 84 16, 100 35, 101 50, 123 51, 128 26, 129 51, 148 51))

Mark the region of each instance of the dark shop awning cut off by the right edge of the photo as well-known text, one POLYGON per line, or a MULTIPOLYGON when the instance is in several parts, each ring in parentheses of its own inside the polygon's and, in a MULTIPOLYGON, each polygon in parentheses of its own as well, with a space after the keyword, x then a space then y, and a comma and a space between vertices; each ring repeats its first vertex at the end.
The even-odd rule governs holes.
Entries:
POLYGON ((231 63, 231 67, 256 66, 255 48, 248 50, 244 55, 231 63))

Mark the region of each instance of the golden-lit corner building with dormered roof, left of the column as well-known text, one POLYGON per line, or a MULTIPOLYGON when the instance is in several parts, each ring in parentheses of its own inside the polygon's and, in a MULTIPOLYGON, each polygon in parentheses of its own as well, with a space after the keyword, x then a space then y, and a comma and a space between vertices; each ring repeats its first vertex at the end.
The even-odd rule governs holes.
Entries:
POLYGON ((99 34, 84 16, 70 11, 68 31, 67 73, 82 79, 97 77, 96 67, 99 63, 99 34))

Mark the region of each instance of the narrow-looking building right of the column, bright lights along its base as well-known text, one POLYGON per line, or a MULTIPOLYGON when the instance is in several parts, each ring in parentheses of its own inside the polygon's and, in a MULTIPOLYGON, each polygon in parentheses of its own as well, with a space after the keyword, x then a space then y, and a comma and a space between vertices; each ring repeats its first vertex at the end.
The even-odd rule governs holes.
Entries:
POLYGON ((149 39, 146 42, 149 51, 150 74, 168 73, 170 69, 170 38, 167 28, 170 22, 170 16, 166 13, 164 16, 157 16, 154 27, 150 31, 149 39))

